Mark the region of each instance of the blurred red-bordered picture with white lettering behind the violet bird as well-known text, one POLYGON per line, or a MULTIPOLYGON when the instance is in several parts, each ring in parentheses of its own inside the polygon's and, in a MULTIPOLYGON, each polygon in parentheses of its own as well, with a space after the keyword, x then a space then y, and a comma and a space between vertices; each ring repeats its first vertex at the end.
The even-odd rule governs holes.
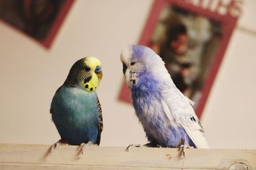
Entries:
MULTIPOLYGON (((240 14, 237 0, 156 0, 152 4, 139 44, 164 60, 177 88, 195 102, 198 117, 240 14)), ((119 99, 131 103, 130 96, 123 83, 119 99)))

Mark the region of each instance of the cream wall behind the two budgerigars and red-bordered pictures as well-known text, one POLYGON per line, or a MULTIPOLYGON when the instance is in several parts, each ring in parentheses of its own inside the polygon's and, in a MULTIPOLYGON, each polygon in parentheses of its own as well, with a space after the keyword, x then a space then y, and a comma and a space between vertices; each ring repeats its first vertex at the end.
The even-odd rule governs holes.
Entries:
MULTIPOLYGON (((60 139, 49 107, 72 64, 85 55, 102 61, 97 90, 102 104, 102 146, 146 143, 131 105, 118 101, 120 50, 137 43, 148 1, 75 1, 51 50, 0 23, 0 143, 51 144, 60 139)), ((239 24, 256 29, 248 0, 239 24)), ((256 36, 236 30, 205 106, 202 124, 212 148, 256 149, 256 36)))

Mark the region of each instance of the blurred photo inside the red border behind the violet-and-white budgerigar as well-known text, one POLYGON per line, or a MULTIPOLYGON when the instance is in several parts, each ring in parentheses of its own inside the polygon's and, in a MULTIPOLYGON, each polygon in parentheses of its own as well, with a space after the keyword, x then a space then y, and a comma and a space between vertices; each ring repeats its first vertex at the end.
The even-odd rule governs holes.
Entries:
POLYGON ((221 35, 220 23, 188 10, 166 7, 149 46, 162 57, 177 88, 198 101, 221 35))

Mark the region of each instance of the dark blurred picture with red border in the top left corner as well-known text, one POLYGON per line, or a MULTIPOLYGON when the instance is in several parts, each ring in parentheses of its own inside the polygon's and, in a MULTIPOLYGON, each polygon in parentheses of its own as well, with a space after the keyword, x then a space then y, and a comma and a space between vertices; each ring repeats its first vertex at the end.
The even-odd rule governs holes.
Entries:
POLYGON ((49 48, 74 0, 0 0, 0 20, 49 48))

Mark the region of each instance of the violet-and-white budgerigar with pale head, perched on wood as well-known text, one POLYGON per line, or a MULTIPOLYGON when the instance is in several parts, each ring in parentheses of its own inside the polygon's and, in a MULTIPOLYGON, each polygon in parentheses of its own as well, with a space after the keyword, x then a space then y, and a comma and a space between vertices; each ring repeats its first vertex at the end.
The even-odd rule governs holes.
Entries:
POLYGON ((121 62, 147 146, 209 148, 192 101, 175 87, 159 55, 147 46, 129 45, 121 62))

